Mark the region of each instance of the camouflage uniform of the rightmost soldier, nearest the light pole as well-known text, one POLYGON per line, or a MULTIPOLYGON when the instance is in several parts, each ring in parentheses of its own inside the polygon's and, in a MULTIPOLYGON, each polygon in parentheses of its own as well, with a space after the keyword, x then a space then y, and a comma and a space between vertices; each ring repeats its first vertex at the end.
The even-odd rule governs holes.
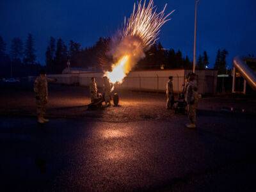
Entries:
POLYGON ((196 81, 188 83, 185 100, 188 104, 188 118, 191 124, 196 124, 196 109, 198 104, 196 81))

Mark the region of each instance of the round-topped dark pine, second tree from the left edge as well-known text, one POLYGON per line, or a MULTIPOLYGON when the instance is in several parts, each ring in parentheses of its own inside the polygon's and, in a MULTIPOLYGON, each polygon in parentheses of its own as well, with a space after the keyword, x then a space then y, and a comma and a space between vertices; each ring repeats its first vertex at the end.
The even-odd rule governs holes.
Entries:
POLYGON ((13 38, 10 55, 12 61, 21 61, 23 56, 23 43, 19 37, 13 38))

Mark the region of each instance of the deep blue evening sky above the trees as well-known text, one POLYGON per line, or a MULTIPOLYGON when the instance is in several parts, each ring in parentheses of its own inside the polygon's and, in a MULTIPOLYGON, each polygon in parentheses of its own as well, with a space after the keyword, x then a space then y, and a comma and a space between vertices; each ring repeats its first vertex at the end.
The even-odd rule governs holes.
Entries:
MULTIPOLYGON (((45 61, 49 37, 74 40, 83 47, 93 45, 100 36, 113 36, 124 17, 132 12, 134 0, 1 0, 0 35, 10 48, 13 37, 35 38, 37 60, 45 61)), ((161 29, 164 48, 180 49, 193 58, 194 0, 155 0, 160 9, 176 10, 161 29)), ((217 49, 227 49, 228 63, 237 54, 256 55, 255 0, 200 0, 198 4, 197 55, 209 53, 211 66, 217 49)), ((231 65, 230 65, 231 66, 231 65)))

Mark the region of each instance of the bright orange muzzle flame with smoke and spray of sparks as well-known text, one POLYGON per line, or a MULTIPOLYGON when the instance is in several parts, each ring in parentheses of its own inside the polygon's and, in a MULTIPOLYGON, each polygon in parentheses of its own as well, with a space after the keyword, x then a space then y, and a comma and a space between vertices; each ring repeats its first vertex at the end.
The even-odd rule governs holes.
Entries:
POLYGON ((161 26, 170 20, 167 17, 172 13, 164 15, 165 8, 166 5, 156 13, 153 0, 147 6, 146 0, 143 4, 140 1, 138 6, 134 3, 130 18, 124 21, 120 38, 113 42, 111 54, 118 62, 112 65, 112 72, 105 73, 111 83, 122 83, 132 67, 145 57, 144 51, 156 42, 161 26))

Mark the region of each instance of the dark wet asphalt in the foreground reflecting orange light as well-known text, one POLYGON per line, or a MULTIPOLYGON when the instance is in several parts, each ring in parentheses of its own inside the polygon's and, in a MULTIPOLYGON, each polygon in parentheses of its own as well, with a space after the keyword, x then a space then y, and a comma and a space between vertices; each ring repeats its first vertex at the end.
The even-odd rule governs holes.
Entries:
POLYGON ((255 117, 186 122, 1 117, 0 190, 255 191, 255 117))

